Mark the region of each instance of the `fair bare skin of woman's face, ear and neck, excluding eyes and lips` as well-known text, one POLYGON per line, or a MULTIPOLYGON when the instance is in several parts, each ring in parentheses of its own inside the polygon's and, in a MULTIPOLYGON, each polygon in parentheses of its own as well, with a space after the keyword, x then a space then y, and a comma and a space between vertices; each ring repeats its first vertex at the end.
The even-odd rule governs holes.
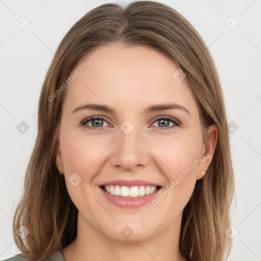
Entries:
POLYGON ((202 178, 201 172, 206 172, 213 159, 217 127, 210 126, 209 142, 204 144, 197 103, 186 78, 177 82, 172 76, 178 67, 167 56, 143 45, 117 43, 98 49, 101 54, 67 87, 62 107, 56 160, 79 210, 77 238, 63 249, 64 258, 186 260, 178 248, 182 210, 196 180, 202 178), (107 105, 117 114, 91 110, 72 113, 86 102, 107 105), (178 103, 190 115, 179 109, 142 114, 150 105, 167 102, 178 103), (86 123, 96 129, 80 125, 92 116, 103 116, 106 121, 86 123), (170 116, 181 124, 166 130, 174 123, 160 125, 159 116, 170 116), (134 126, 129 134, 120 128, 126 120, 134 126), (163 192, 200 154, 204 159, 157 206, 149 202, 138 208, 121 208, 109 202, 98 187, 109 180, 137 178, 160 184, 163 192), (82 178, 75 187, 68 181, 74 172, 82 178), (126 225, 134 231, 128 239, 121 234, 126 225))

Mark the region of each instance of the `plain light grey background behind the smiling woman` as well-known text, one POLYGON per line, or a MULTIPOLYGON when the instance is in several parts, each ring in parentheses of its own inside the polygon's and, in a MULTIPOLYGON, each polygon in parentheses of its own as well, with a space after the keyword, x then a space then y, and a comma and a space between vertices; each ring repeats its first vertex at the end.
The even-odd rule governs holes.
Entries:
MULTIPOLYGON (((108 1, 112 2, 129 1, 108 1)), ((158 2, 184 15, 214 57, 228 121, 233 121, 230 138, 236 198, 231 208, 234 240, 228 260, 261 260, 261 1, 158 2)), ((37 135, 37 103, 45 73, 70 27, 105 3, 0 0, 0 259, 20 252, 11 233, 12 217, 37 135), (30 24, 21 30, 16 23, 21 27, 26 20, 30 24), (16 128, 21 121, 29 125, 23 134, 16 128)))

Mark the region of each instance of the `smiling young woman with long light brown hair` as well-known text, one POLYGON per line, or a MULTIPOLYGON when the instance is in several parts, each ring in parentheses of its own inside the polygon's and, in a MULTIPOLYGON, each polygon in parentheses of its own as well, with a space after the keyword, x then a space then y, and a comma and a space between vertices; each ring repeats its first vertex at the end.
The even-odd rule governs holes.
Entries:
POLYGON ((7 260, 225 260, 233 189, 202 38, 165 4, 101 5, 46 74, 7 260))

